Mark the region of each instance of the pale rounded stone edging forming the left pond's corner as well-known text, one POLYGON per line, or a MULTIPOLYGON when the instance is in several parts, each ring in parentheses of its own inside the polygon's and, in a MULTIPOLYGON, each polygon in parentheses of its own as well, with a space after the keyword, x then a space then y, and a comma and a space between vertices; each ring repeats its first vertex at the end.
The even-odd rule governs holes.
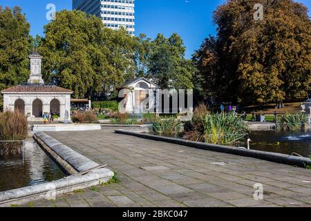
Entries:
POLYGON ((50 198, 51 195, 69 193, 77 189, 96 186, 108 182, 114 175, 112 171, 106 168, 95 169, 85 175, 77 175, 78 172, 88 171, 96 166, 100 166, 100 164, 73 151, 73 149, 45 133, 35 133, 34 139, 72 176, 45 184, 0 192, 0 207, 24 204, 32 200, 50 198), (76 176, 74 176, 75 174, 76 176))

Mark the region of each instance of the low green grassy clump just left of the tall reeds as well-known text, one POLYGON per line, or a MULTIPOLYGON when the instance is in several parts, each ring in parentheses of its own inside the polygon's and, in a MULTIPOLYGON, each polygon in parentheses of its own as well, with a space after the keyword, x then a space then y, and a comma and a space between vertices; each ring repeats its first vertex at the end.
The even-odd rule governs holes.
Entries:
POLYGON ((180 133, 181 122, 173 117, 158 119, 155 122, 151 122, 149 126, 149 133, 156 135, 173 135, 180 133))

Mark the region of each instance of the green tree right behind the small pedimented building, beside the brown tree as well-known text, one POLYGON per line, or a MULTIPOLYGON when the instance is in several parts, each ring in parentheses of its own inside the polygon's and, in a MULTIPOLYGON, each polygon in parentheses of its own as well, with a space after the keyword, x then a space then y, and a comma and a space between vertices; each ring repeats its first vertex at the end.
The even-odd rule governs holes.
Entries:
POLYGON ((160 88, 193 88, 194 64, 185 59, 186 48, 179 35, 167 39, 159 34, 149 45, 147 76, 160 88))

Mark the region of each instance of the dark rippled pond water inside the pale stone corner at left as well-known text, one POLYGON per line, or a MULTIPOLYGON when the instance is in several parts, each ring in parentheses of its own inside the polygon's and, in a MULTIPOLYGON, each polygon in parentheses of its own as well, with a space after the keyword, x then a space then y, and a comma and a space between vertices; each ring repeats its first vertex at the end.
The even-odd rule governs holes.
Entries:
POLYGON ((0 191, 42 184, 65 176, 32 139, 25 142, 23 155, 0 156, 0 191))

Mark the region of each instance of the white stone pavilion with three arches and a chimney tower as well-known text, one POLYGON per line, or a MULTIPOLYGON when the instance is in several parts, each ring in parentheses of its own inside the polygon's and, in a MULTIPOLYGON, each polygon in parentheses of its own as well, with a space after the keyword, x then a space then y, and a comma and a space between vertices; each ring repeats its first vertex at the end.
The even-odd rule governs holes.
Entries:
POLYGON ((30 55, 30 77, 27 84, 1 90, 3 110, 28 115, 32 121, 42 120, 43 113, 52 112, 59 120, 70 119, 70 95, 73 91, 55 85, 46 85, 41 77, 41 59, 30 55))

